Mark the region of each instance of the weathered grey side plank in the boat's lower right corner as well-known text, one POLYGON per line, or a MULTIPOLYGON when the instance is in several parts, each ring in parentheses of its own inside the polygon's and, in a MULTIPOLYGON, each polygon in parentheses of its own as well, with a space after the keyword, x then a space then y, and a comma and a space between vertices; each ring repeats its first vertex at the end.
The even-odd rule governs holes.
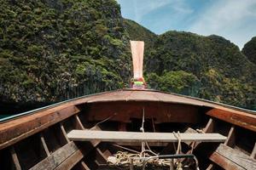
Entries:
POLYGON ((224 144, 218 146, 210 159, 224 167, 224 169, 231 169, 231 167, 234 169, 256 169, 255 159, 224 144))

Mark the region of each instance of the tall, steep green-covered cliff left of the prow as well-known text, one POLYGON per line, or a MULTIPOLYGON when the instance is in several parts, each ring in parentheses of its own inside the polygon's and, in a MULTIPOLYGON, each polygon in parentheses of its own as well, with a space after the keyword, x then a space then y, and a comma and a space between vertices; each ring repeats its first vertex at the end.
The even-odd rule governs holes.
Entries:
POLYGON ((116 1, 0 3, 2 101, 57 101, 128 80, 131 58, 116 1))

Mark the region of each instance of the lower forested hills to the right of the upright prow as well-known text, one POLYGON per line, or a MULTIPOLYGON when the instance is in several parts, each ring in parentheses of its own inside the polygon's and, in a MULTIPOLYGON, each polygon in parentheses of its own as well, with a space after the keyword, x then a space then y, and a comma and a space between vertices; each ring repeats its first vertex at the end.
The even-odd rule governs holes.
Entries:
POLYGON ((134 21, 125 22, 130 37, 154 42, 146 46, 144 59, 150 88, 256 109, 256 65, 235 44, 183 31, 155 36, 134 21))

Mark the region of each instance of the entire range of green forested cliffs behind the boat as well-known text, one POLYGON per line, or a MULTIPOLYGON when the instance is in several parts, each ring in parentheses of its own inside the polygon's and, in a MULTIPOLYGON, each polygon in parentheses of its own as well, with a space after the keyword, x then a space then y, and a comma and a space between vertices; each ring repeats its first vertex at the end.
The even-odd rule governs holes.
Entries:
POLYGON ((0 3, 1 102, 56 102, 123 88, 131 39, 146 43, 150 88, 256 110, 255 38, 242 54, 215 35, 158 36, 123 19, 115 0, 0 3))

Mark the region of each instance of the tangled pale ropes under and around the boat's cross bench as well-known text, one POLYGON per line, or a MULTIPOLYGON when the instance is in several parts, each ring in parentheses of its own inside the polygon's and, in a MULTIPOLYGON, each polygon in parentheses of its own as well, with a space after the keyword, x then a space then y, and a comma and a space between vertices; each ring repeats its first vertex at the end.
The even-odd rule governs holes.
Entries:
MULTIPOLYGON (((113 116, 115 116, 115 115, 116 114, 114 114, 113 116)), ((108 121, 113 116, 109 116, 107 119, 103 120, 102 122, 108 121)), ((98 125, 102 122, 98 122, 98 123, 96 123, 96 125, 98 125)), ((145 122, 145 110, 143 107, 143 121, 142 121, 142 127, 140 127, 140 131, 142 133, 145 133, 144 122, 145 122)), ((152 123, 154 126, 153 118, 152 118, 152 123)), ((155 132, 155 129, 154 129, 154 132, 155 132)), ((182 152, 180 133, 178 131, 177 133, 173 132, 173 134, 174 134, 175 138, 177 139, 176 155, 179 155, 182 152)), ((148 143, 145 141, 142 141, 141 152, 138 152, 137 150, 131 150, 131 149, 125 148, 118 144, 113 144, 113 145, 115 145, 121 149, 134 152, 134 153, 132 154, 132 153, 128 153, 128 152, 118 151, 115 155, 108 156, 108 164, 110 164, 110 165, 122 166, 122 167, 126 167, 126 168, 128 167, 130 170, 133 170, 134 166, 137 166, 137 167, 142 167, 142 169, 144 170, 146 165, 149 164, 150 166, 153 166, 153 167, 155 167, 155 166, 170 167, 170 170, 174 170, 174 169, 183 170, 183 164, 180 161, 178 161, 178 157, 171 158, 171 159, 170 158, 163 159, 164 157, 160 157, 159 154, 154 153, 154 151, 150 149, 148 143), (148 150, 146 150, 146 146, 148 147, 148 150)), ((175 144, 174 144, 174 146, 175 146, 175 144)), ((199 169, 198 161, 195 156, 194 156, 194 159, 195 159, 196 168, 199 169)))

